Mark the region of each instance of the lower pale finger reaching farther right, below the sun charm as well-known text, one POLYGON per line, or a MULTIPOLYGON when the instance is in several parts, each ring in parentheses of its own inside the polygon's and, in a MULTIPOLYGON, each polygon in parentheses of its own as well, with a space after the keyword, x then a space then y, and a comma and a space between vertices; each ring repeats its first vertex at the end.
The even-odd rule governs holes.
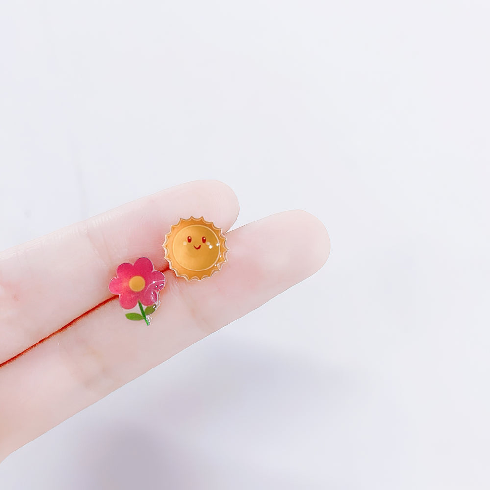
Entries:
POLYGON ((0 455, 311 275, 329 252, 325 228, 302 211, 231 231, 227 245, 228 263, 202 282, 166 273, 149 327, 110 300, 0 369, 0 455))

